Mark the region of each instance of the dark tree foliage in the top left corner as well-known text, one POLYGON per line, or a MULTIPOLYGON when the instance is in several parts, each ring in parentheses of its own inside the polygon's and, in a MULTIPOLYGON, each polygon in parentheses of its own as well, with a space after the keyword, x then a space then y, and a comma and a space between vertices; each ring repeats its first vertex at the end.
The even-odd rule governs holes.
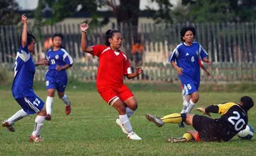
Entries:
POLYGON ((1 25, 13 25, 21 21, 21 15, 15 13, 19 9, 15 0, 0 1, 0 20, 1 25))

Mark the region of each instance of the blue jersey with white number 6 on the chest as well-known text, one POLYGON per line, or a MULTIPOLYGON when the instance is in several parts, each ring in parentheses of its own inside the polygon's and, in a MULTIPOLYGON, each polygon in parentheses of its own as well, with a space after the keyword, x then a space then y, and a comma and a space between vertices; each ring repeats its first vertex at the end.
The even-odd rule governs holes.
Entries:
POLYGON ((195 85, 200 84, 200 66, 198 59, 207 57, 208 54, 197 42, 193 42, 191 46, 185 43, 179 44, 169 57, 169 62, 177 63, 178 67, 183 68, 183 75, 178 76, 183 84, 192 81, 195 85))

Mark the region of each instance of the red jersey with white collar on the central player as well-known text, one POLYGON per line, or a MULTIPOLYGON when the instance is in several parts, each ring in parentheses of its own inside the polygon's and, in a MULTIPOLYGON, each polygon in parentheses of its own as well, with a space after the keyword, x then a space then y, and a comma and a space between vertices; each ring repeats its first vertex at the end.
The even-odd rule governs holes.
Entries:
POLYGON ((92 50, 92 55, 99 57, 97 89, 120 88, 123 85, 123 76, 131 73, 130 62, 126 54, 121 50, 114 52, 106 45, 94 45, 92 50))

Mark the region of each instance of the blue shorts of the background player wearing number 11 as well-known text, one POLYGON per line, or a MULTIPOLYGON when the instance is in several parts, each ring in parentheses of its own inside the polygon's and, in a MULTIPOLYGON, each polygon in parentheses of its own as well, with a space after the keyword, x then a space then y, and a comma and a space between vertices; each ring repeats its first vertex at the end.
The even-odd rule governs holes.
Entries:
POLYGON ((45 74, 46 89, 57 89, 58 92, 64 92, 68 84, 66 71, 49 70, 45 74))

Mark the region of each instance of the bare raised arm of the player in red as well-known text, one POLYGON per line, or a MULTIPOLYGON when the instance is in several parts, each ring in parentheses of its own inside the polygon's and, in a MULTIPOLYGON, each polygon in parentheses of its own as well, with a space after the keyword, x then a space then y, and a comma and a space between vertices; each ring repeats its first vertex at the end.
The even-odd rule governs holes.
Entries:
POLYGON ((87 45, 87 39, 86 39, 86 33, 89 28, 89 25, 86 23, 82 23, 80 25, 80 28, 82 30, 82 36, 81 36, 81 49, 85 53, 91 53, 92 54, 92 47, 88 47, 87 45))

